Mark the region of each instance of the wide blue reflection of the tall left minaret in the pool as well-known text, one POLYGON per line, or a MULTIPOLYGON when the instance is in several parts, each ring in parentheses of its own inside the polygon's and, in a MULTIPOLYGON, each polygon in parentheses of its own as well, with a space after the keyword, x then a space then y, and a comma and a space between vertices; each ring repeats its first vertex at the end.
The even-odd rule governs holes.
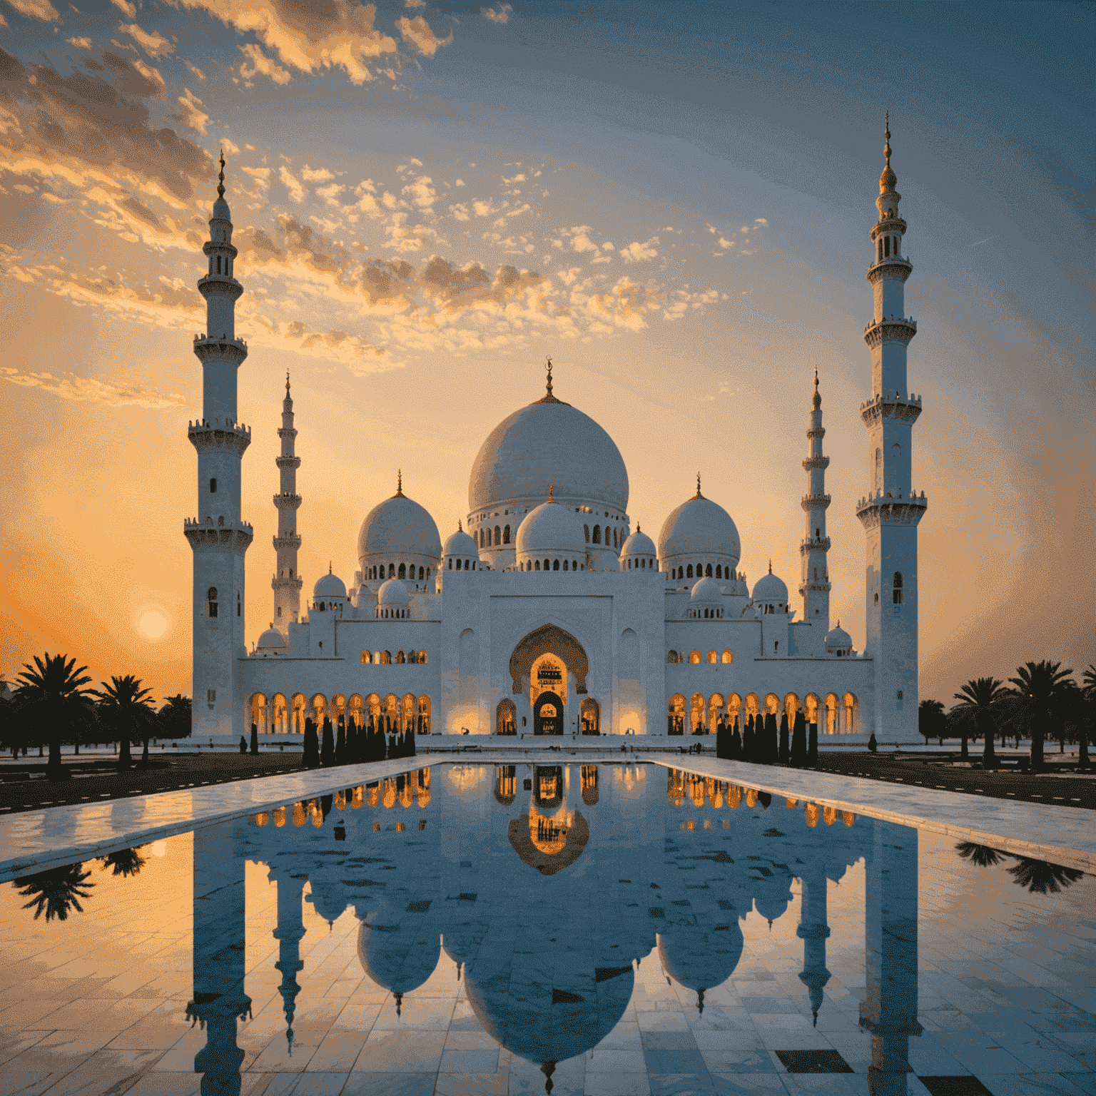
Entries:
POLYGON ((243 858, 233 855, 233 823, 194 832, 194 1000, 186 1015, 201 1021, 206 1044, 194 1055, 202 1096, 237 1096, 243 1051, 236 1018, 251 1011, 243 992, 243 858))

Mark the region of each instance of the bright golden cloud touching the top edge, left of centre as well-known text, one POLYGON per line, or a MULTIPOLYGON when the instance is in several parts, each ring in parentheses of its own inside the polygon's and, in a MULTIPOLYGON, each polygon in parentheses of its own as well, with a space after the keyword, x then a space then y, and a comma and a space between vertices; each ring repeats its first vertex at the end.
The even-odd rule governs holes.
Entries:
POLYGON ((253 32, 283 65, 298 72, 341 68, 357 84, 373 80, 381 71, 387 75, 386 69, 398 60, 396 39, 374 26, 376 8, 358 0, 169 2, 178 8, 206 11, 242 33, 253 32))

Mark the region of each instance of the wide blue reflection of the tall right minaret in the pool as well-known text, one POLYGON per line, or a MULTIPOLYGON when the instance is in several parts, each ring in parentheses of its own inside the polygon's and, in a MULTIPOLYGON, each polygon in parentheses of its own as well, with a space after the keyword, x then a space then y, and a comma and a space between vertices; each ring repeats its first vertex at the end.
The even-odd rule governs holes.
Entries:
POLYGON ((864 940, 867 993, 860 1027, 871 1032, 871 1096, 905 1096, 910 1036, 917 1023, 917 831, 876 821, 867 854, 864 940))

